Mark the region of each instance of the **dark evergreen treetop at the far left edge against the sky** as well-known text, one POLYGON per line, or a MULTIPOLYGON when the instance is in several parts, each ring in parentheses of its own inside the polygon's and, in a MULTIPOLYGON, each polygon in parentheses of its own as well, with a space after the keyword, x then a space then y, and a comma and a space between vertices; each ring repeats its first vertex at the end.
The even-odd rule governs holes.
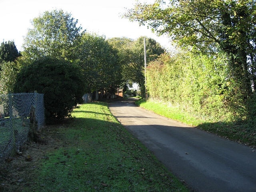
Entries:
POLYGON ((13 62, 20 53, 18 52, 14 41, 2 42, 0 46, 0 63, 3 61, 13 62))

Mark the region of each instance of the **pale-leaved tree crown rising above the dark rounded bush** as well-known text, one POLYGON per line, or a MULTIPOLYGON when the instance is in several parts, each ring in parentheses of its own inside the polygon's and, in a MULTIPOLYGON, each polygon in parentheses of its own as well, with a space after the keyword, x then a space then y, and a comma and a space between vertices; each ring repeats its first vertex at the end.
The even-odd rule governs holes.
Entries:
POLYGON ((33 59, 51 56, 72 59, 72 48, 81 35, 78 20, 63 10, 46 11, 32 20, 24 38, 24 52, 33 59))

